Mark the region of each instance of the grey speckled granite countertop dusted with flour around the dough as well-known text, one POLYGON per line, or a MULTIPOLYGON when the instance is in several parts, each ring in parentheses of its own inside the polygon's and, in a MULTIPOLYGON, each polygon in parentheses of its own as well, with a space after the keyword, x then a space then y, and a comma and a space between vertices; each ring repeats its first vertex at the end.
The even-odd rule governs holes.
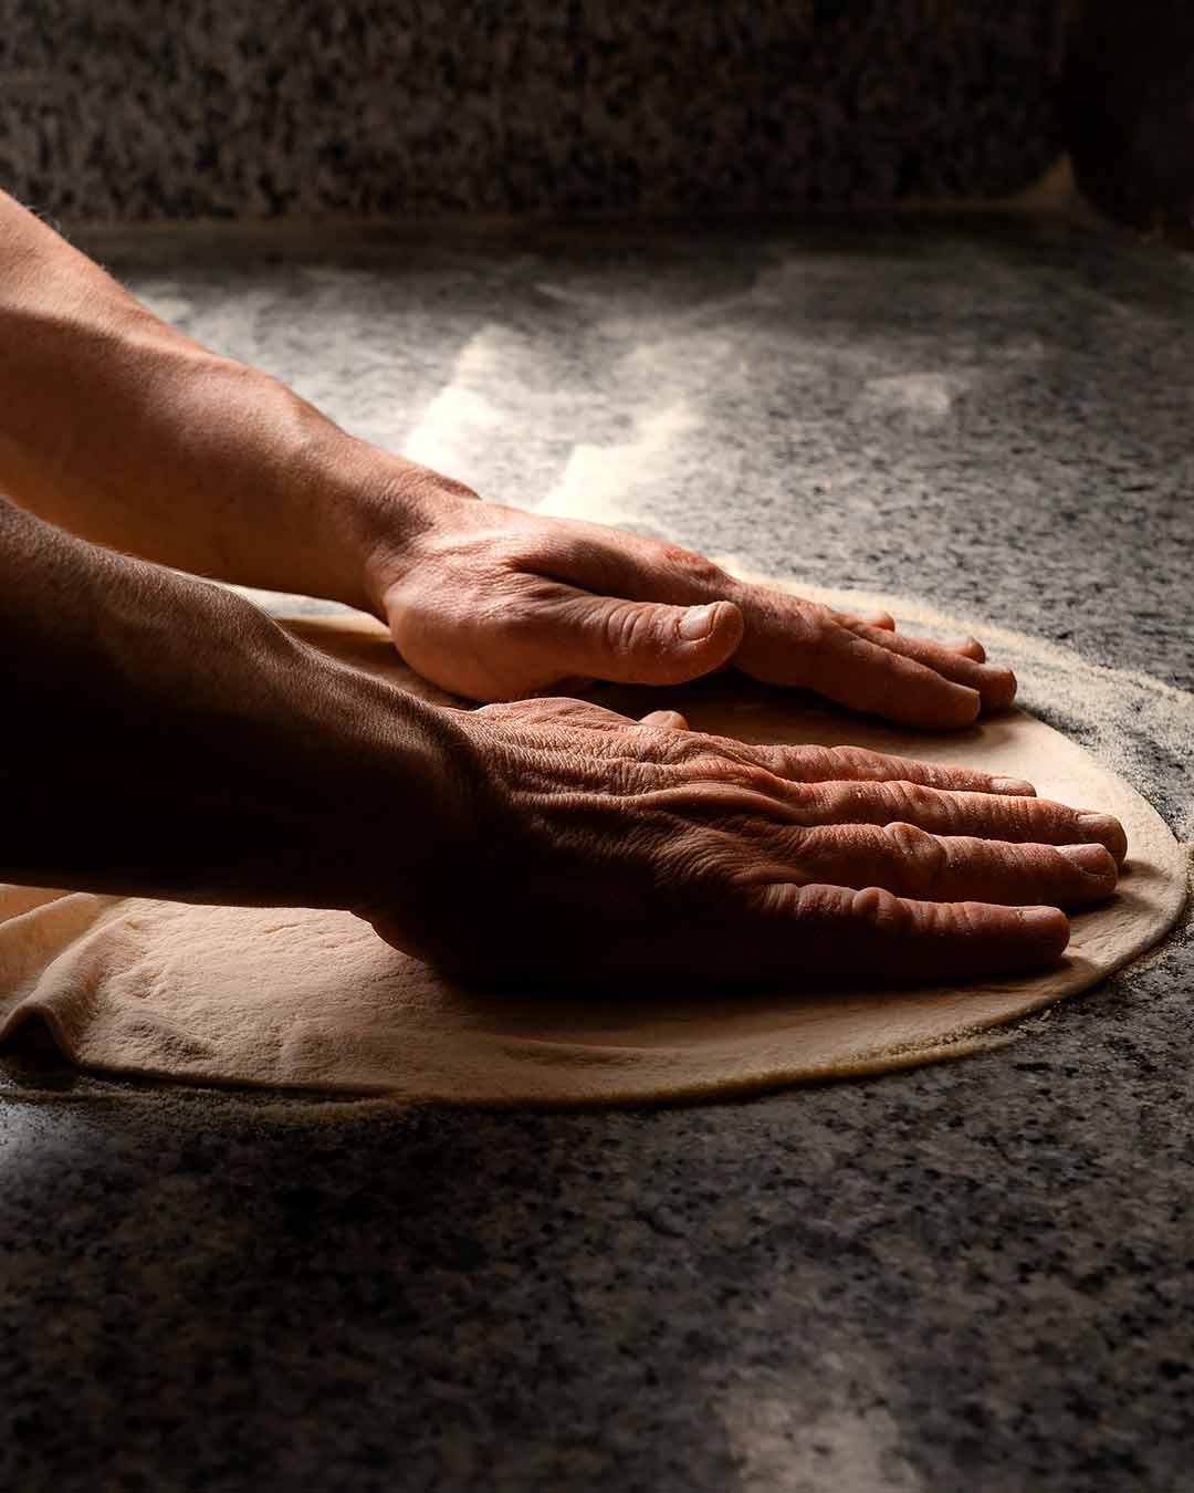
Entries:
MULTIPOLYGON (((487 496, 1194 685, 1194 264, 1063 227, 88 243, 487 496)), ((1194 742, 1139 769, 1188 839, 1194 742)), ((1178 1489, 1194 950, 646 1112, 3 1081, 0 1483, 1178 1489)))

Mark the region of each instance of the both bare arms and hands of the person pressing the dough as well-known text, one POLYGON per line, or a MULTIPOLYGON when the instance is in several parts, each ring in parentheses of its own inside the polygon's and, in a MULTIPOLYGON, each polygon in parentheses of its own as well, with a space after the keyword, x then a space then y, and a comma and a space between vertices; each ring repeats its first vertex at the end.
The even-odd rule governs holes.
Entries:
POLYGON ((948 729, 1015 693, 973 639, 485 502, 157 321, 3 196, 0 348, 9 879, 349 908, 464 973, 690 987, 1033 967, 1060 908, 1115 887, 1122 830, 1030 784, 552 697, 734 667, 948 729), (166 566, 369 609, 490 703, 413 700, 166 566))

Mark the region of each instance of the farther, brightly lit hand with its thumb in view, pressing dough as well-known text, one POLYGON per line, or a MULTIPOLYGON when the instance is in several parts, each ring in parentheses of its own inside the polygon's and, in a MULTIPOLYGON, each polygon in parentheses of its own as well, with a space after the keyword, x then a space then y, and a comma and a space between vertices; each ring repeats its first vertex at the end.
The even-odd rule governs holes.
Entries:
POLYGON ((681 684, 730 663, 907 726, 966 726, 1015 696, 1010 670, 973 639, 904 638, 890 617, 748 585, 676 545, 451 484, 403 505, 401 540, 367 564, 370 605, 412 667, 469 699, 681 684))

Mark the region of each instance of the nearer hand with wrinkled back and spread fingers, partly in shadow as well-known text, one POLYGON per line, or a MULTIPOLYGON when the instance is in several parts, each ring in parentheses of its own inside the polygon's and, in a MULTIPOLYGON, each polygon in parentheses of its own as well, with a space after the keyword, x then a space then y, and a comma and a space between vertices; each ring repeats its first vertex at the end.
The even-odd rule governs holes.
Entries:
MULTIPOLYGON (((1003 975, 1115 888, 1116 820, 982 772, 748 746, 582 700, 451 712, 466 844, 382 938, 449 973, 610 988, 1003 975)), ((457 821, 460 823, 460 821, 457 821)))

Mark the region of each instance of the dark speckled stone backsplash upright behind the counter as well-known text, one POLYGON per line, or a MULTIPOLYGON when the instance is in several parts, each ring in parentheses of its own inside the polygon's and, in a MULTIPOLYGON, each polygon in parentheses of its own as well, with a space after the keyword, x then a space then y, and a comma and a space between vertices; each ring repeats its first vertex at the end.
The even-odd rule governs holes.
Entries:
POLYGON ((1069 0, 0 0, 0 187, 96 221, 1025 187, 1069 0))

